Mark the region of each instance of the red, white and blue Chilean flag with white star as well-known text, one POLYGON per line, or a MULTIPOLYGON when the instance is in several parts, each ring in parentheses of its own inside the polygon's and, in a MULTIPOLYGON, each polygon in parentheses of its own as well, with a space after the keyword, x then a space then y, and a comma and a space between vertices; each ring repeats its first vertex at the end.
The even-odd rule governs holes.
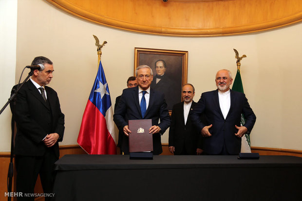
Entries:
POLYGON ((77 143, 89 154, 116 154, 113 110, 101 62, 83 114, 77 143))

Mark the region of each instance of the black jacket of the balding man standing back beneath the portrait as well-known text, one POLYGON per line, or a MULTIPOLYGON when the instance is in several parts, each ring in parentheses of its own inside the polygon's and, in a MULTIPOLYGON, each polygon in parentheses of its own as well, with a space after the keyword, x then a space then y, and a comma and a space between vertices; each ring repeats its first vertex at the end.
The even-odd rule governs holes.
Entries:
MULTIPOLYGON (((195 105, 196 102, 192 101, 190 110, 192 110, 195 105)), ((171 120, 169 147, 175 147, 175 155, 181 154, 183 149, 186 149, 189 155, 196 155, 196 149, 202 149, 202 135, 200 131, 193 126, 190 114, 185 125, 184 101, 173 106, 171 120)))

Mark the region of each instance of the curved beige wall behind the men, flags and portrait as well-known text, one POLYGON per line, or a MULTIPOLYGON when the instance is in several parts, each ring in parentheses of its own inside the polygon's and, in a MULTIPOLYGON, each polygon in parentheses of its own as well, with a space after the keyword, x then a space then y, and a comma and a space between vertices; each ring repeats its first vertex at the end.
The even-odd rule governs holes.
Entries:
MULTIPOLYGON (((196 88, 194 101, 216 88, 217 70, 228 68, 235 76, 232 49, 237 49, 247 55, 241 74, 257 116, 251 145, 302 150, 302 90, 296 87, 300 79, 294 79, 302 74, 302 23, 245 35, 169 37, 120 31, 70 16, 43 0, 19 0, 16 80, 35 56, 54 62, 49 85, 56 89, 66 116, 62 144, 76 144, 97 72, 93 34, 108 42, 102 49, 102 64, 113 104, 133 75, 134 47, 189 51, 188 83, 196 88)), ((168 133, 162 142, 168 142, 168 133)), ((0 147, 7 143, 1 140, 0 147)))

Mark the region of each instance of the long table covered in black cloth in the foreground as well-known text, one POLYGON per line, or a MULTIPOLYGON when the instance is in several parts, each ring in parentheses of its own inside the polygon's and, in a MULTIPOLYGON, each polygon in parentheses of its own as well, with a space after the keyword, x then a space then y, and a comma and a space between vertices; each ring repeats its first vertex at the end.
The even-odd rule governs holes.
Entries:
POLYGON ((302 158, 65 155, 56 201, 302 201, 302 158))

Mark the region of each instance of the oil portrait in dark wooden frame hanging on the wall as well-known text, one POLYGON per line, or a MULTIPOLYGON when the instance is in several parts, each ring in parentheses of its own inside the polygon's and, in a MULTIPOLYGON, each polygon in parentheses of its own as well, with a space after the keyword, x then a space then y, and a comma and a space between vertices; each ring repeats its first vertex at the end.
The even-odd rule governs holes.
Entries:
POLYGON ((188 51, 134 48, 134 74, 140 65, 151 67, 151 88, 165 94, 171 114, 173 105, 182 101, 182 85, 187 84, 188 51))

